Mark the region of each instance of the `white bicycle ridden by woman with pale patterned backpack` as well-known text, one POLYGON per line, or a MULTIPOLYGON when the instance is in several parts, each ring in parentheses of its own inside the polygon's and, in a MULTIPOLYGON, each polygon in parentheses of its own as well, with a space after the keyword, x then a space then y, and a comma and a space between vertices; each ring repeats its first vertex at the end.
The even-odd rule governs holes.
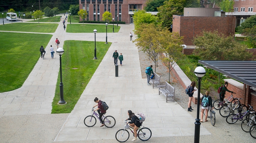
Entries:
MULTIPOLYGON (((132 133, 133 133, 133 136, 134 136, 134 132, 132 129, 134 129, 132 126, 130 125, 127 125, 128 121, 125 120, 124 121, 125 125, 124 125, 124 128, 123 129, 120 129, 116 132, 116 140, 118 142, 126 142, 129 137, 130 137, 130 134, 128 132, 128 130, 130 130, 132 133)), ((143 126, 143 125, 142 125, 143 126)), ((152 136, 152 132, 149 128, 147 127, 139 127, 138 128, 138 133, 137 133, 137 137, 142 140, 142 141, 148 141, 152 136)))

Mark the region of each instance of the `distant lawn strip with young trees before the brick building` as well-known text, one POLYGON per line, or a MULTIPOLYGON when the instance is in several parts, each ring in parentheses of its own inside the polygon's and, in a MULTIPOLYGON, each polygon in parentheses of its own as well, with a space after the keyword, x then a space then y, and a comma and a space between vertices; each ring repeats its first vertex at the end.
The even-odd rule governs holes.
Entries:
MULTIPOLYGON (((66 32, 69 33, 93 33, 93 30, 96 29, 98 33, 106 33, 106 25, 105 24, 68 24, 66 28, 66 32)), ((118 32, 120 26, 116 27, 114 25, 114 32, 118 32)), ((108 33, 113 32, 113 25, 108 25, 107 28, 108 33)))

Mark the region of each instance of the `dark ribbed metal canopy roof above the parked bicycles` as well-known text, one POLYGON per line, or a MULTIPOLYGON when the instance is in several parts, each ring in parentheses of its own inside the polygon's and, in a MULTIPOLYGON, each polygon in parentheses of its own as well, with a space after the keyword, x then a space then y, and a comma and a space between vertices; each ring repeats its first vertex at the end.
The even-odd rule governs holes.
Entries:
POLYGON ((256 88, 256 61, 198 61, 211 69, 256 88))

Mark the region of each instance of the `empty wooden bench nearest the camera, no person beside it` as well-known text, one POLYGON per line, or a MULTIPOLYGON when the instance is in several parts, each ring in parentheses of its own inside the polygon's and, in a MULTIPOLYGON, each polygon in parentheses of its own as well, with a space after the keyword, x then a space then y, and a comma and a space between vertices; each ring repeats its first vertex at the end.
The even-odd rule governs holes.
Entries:
POLYGON ((173 86, 171 86, 170 84, 168 84, 168 82, 165 82, 165 85, 159 85, 159 91, 158 91, 158 95, 160 95, 160 93, 162 93, 165 97, 166 97, 166 102, 167 101, 175 101, 175 88, 173 86), (168 100, 168 97, 172 98, 170 100, 168 100))

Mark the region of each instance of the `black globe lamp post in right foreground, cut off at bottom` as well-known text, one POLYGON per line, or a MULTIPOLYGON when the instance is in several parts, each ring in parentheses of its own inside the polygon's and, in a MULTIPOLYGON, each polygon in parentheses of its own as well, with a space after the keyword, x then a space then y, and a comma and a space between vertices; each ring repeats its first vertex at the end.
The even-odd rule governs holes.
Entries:
POLYGON ((199 108, 200 108, 200 89, 201 89, 201 78, 204 76, 204 74, 206 74, 206 71, 203 67, 197 67, 194 70, 194 74, 198 77, 198 90, 197 90, 197 119, 196 122, 194 122, 195 124, 195 132, 194 132, 194 143, 199 143, 199 139, 200 139, 200 119, 199 119, 199 108))

